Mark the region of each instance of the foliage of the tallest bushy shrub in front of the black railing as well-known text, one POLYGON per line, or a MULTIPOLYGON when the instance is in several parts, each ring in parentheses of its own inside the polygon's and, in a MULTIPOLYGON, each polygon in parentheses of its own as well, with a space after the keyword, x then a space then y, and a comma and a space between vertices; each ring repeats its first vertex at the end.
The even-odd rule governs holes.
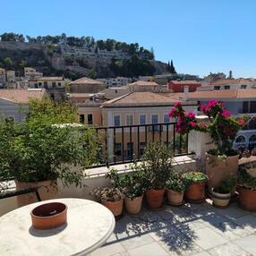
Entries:
POLYGON ((172 170, 173 152, 160 142, 150 142, 144 151, 141 165, 146 189, 164 189, 172 170))

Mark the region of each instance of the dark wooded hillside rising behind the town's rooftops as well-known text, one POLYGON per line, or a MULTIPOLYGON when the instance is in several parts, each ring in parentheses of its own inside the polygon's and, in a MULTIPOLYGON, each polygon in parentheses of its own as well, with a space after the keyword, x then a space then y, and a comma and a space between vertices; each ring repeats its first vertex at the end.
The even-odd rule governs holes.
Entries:
MULTIPOLYGON (((131 45, 127 47, 122 59, 96 56, 63 55, 58 45, 53 43, 0 41, 0 67, 13 69, 21 75, 24 66, 36 68, 45 75, 62 75, 76 79, 84 75, 91 78, 152 75, 166 73, 167 65, 154 60, 153 54, 143 47, 138 50, 131 45), (130 47, 129 47, 130 46, 130 47)), ((98 41, 97 41, 98 42, 98 41)), ((115 42, 115 47, 118 42, 115 42)), ((100 44, 99 44, 100 45, 100 44)), ((133 44, 132 44, 133 45, 133 44)), ((123 47, 124 47, 123 46, 123 47)), ((76 46, 74 46, 76 47, 76 46)), ((95 47, 98 49, 98 47, 95 47)), ((107 51, 101 46, 102 51, 107 51)), ((122 52, 122 48, 115 50, 122 52)), ((110 51, 109 51, 110 52, 110 51)))

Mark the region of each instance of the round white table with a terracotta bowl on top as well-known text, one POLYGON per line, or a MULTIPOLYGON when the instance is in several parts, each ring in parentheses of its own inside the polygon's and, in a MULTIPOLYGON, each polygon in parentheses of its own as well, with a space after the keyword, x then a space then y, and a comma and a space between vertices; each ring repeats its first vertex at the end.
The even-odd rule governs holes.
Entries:
POLYGON ((0 255, 86 255, 106 243, 114 228, 113 214, 98 202, 74 198, 40 201, 0 218, 0 255), (34 229, 30 211, 51 201, 67 205, 67 225, 34 229))

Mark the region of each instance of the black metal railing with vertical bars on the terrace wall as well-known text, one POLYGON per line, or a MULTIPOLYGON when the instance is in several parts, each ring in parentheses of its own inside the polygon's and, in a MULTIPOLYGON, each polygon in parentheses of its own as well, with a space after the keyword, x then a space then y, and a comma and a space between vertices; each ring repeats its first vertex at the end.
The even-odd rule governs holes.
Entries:
POLYGON ((173 150, 175 156, 188 155, 188 134, 175 132, 176 123, 133 124, 97 127, 100 144, 100 164, 110 166, 129 163, 143 157, 149 141, 161 141, 173 150))

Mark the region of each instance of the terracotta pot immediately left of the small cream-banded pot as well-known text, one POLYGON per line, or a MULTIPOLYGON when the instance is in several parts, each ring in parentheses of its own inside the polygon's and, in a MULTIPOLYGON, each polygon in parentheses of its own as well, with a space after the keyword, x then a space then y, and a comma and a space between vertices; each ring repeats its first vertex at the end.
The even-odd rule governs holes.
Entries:
POLYGON ((190 183, 185 191, 187 201, 201 202, 205 199, 205 183, 190 183))

